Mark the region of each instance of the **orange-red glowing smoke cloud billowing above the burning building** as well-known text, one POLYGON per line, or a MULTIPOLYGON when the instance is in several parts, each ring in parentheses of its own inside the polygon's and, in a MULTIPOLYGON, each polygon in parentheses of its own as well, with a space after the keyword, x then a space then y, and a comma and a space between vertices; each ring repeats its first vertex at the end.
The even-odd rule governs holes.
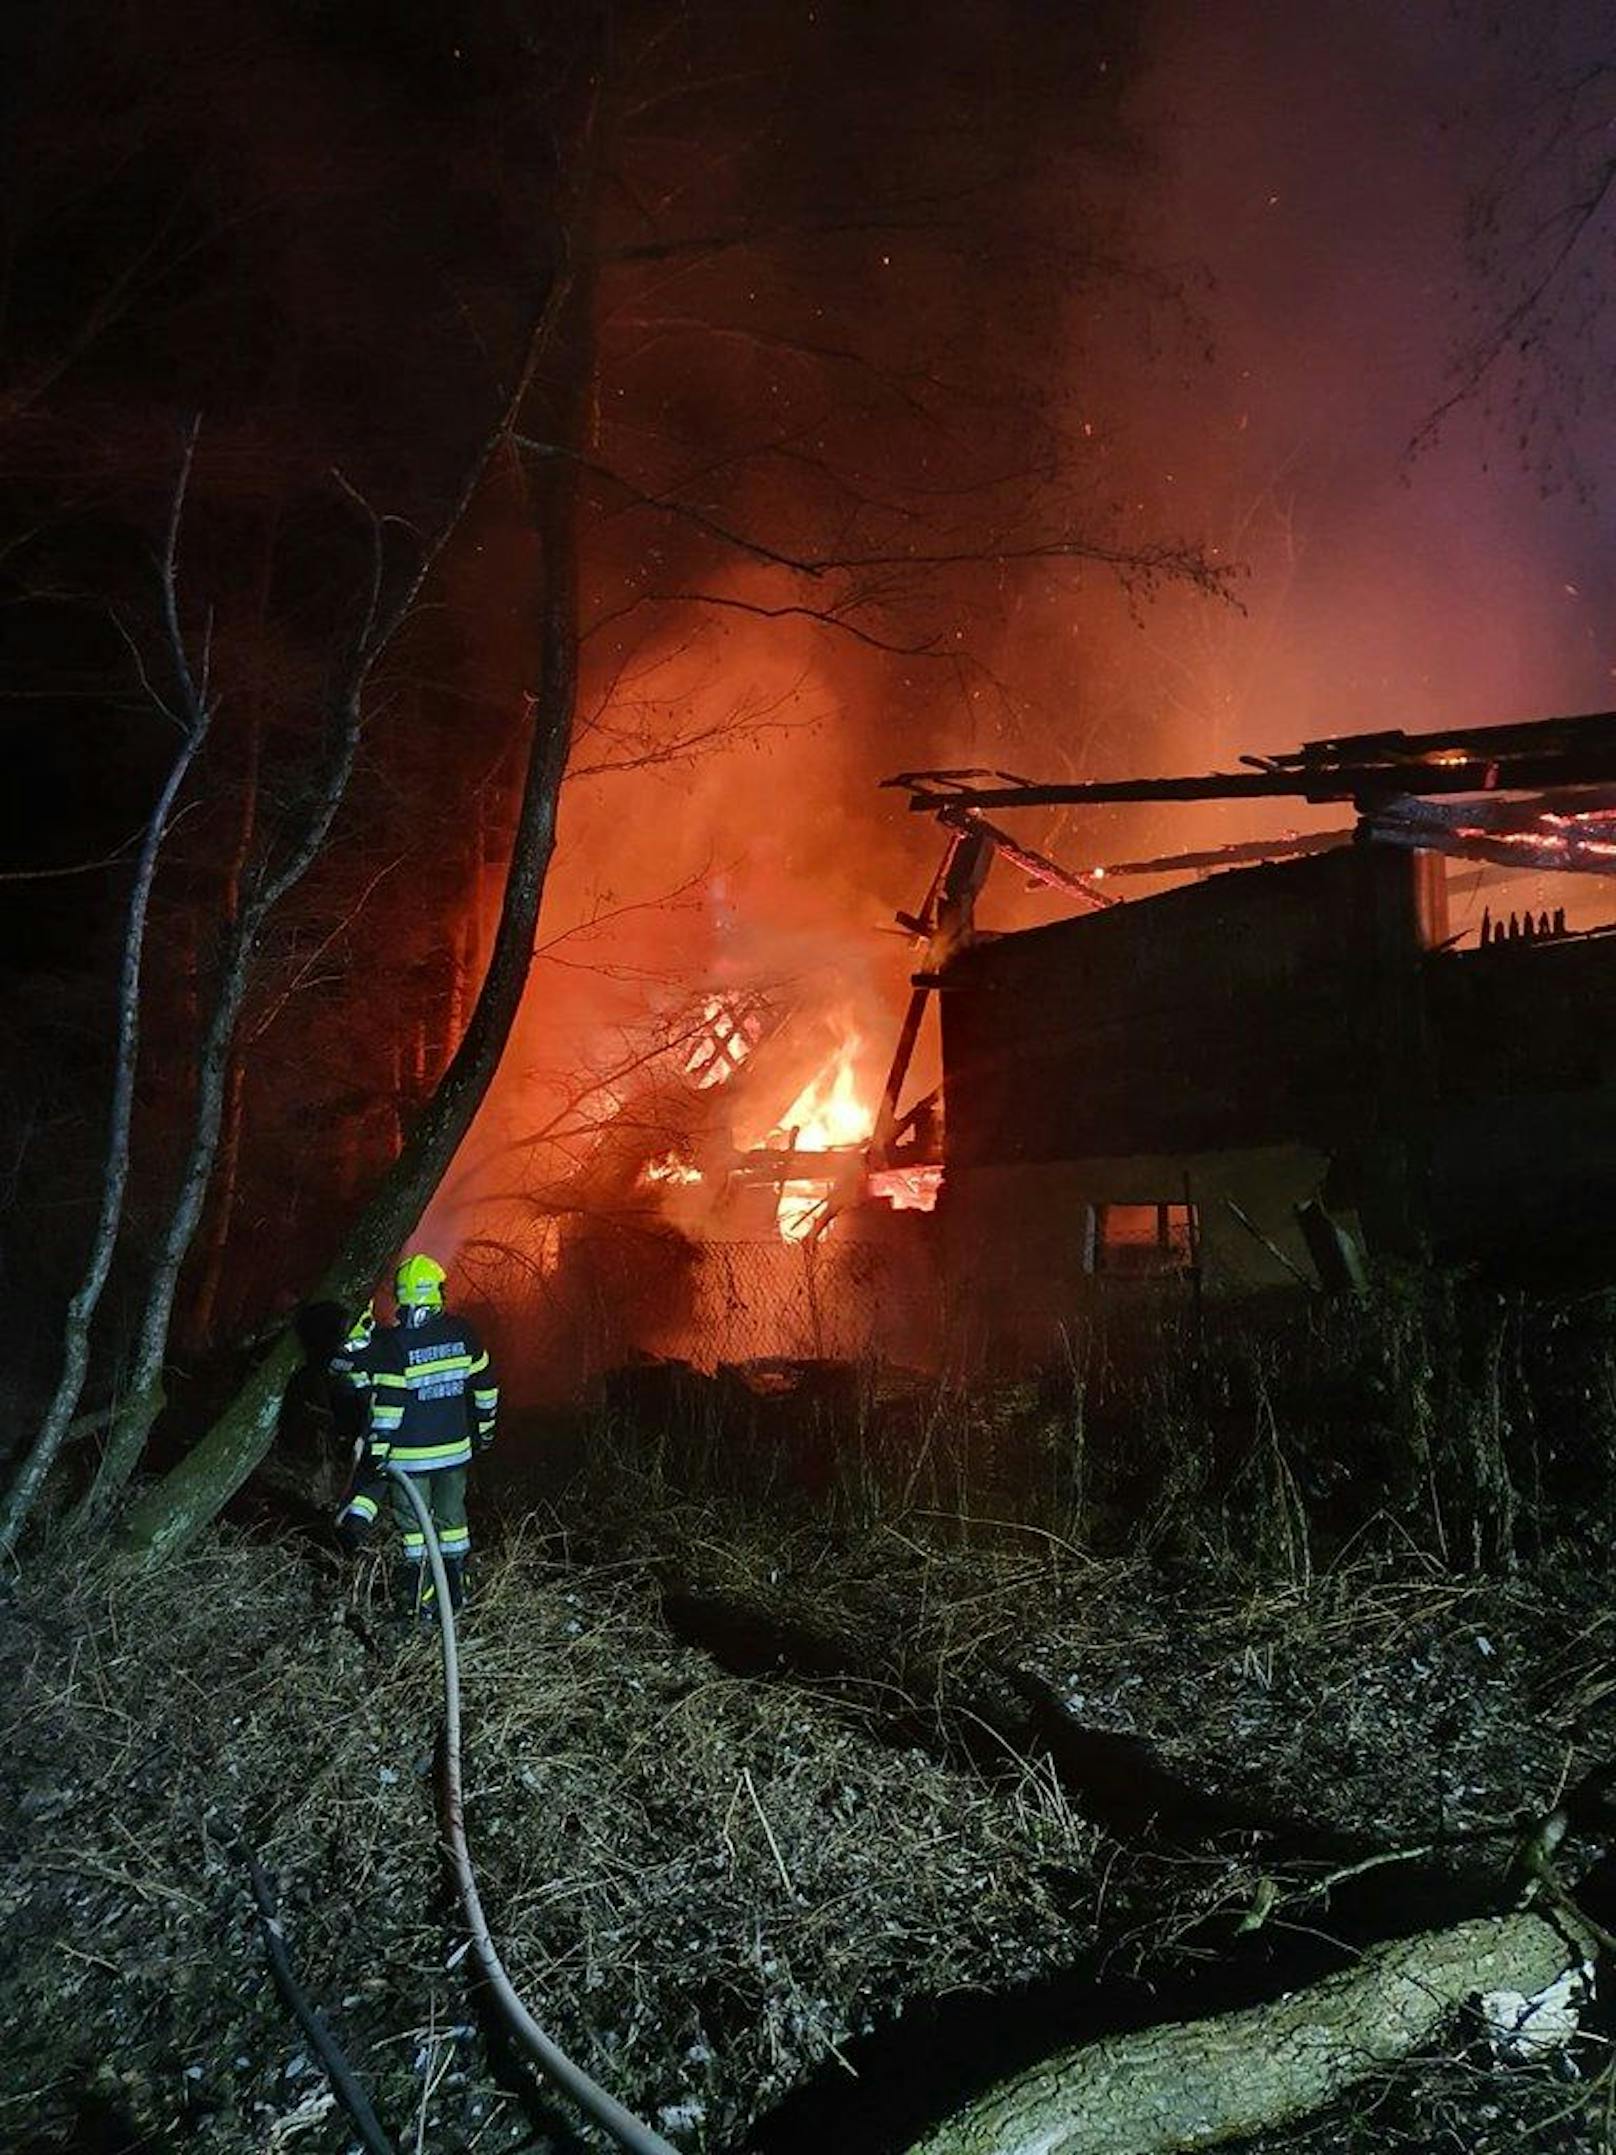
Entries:
MULTIPOLYGON (((1601 504, 1545 493, 1480 407, 1411 453, 1493 300, 1463 246, 1478 129, 1508 106, 1480 11, 1217 0, 1041 26, 1019 9, 995 34, 961 0, 916 50, 901 9, 776 22, 730 101, 700 103, 689 52, 685 103, 674 84, 627 155, 610 235, 666 244, 603 306, 599 455, 627 491, 593 504, 601 629, 545 948, 444 1239, 489 1239, 524 1144, 534 1190, 595 1177, 610 1209, 668 1138, 610 1073, 702 991, 776 996, 804 1043, 855 1030, 879 1080, 914 963, 892 914, 939 851, 877 791, 892 769, 1209 769, 1610 700, 1601 504), (761 226, 797 237, 674 244, 761 226), (646 506, 668 496, 700 513, 646 506), (1036 558, 1051 530, 1200 545, 1228 595, 1036 558), (961 558, 905 573, 905 550, 961 558), (627 1151, 588 1116, 560 1151, 532 1142, 597 1084, 627 1151)), ((1136 808, 1026 836, 1088 866, 1273 828, 1136 808)), ((1571 905, 1599 916, 1586 884, 1571 905)), ((983 907, 1060 909, 1004 866, 983 907)), ((806 1075, 782 1060, 778 1112, 806 1075)), ((644 1267, 664 1330, 670 1248, 644 1267)))

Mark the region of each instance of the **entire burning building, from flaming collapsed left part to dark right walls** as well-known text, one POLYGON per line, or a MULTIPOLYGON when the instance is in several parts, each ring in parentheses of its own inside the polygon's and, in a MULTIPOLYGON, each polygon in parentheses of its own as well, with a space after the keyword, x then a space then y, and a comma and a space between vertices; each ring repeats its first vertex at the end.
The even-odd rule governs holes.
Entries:
POLYGON ((780 981, 672 1013, 541 1198, 571 1343, 549 1360, 961 1371, 1060 1351, 1097 1302, 1353 1289, 1385 1256, 1610 1276, 1616 929, 1521 901, 1616 871, 1612 778, 1616 718, 1323 741, 1185 780, 909 774, 946 849, 898 916, 896 1034, 780 981), (989 821, 1220 795, 1357 819, 1088 873, 989 821), (995 933, 995 860, 1075 909, 995 933), (1517 912, 1457 931, 1454 862, 1517 912), (1120 903, 1127 875, 1166 888, 1120 903))

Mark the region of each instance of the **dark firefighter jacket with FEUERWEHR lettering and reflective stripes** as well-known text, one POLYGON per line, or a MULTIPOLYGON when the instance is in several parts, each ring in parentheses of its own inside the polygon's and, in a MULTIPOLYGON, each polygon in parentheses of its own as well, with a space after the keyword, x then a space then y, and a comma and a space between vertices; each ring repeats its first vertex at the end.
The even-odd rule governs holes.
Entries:
POLYGON ((377 1330, 371 1373, 371 1459, 405 1474, 470 1465, 472 1444, 493 1442, 500 1386, 487 1347, 465 1317, 407 1310, 377 1330))

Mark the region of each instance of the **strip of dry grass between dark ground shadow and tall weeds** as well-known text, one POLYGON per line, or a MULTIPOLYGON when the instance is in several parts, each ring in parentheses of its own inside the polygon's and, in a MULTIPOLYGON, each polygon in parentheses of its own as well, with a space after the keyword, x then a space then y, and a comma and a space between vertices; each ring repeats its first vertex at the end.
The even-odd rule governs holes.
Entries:
POLYGON ((1575 1560, 1504 1577, 1360 1549, 1306 1580, 1097 1560, 1008 1519, 782 1526, 636 1478, 590 1491, 597 1549, 799 1625, 894 1698, 1045 1681, 1209 1795, 1388 1843, 1547 1808, 1616 1756, 1616 1621, 1575 1560))

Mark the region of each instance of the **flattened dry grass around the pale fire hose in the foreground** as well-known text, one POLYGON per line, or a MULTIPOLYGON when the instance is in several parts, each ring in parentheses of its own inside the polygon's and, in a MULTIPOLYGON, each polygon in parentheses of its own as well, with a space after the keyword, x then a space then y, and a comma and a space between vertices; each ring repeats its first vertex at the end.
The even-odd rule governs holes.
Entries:
MULTIPOLYGON (((198 2146, 347 2144, 263 1980, 241 1843, 392 2129, 528 2140, 450 1965, 435 1653, 366 1642, 366 1573, 220 1541, 166 1577, 41 1577, 0 1623, 0 2142, 80 2144, 88 2086, 198 2146)), ((1004 1802, 804 1690, 715 1674, 631 1571, 517 1541, 483 1575, 465 1709, 470 1836, 517 1985, 685 2146, 737 2146, 903 1998, 1084 1944, 1097 1836, 1032 1778, 1004 1802)))

